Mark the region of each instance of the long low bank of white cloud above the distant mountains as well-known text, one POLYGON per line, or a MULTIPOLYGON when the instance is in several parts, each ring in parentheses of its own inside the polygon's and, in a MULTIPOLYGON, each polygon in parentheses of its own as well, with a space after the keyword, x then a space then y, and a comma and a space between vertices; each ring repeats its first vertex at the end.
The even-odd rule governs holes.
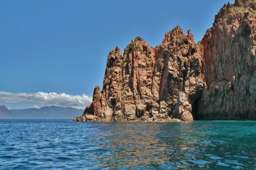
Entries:
POLYGON ((65 93, 12 93, 0 91, 0 101, 9 103, 34 103, 34 107, 56 105, 60 107, 74 107, 84 109, 92 99, 88 95, 68 95, 65 93))

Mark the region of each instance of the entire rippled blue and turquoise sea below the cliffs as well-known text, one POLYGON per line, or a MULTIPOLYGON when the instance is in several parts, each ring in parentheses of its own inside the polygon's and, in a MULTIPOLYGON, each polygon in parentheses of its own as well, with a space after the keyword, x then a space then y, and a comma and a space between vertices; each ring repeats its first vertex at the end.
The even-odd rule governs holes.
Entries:
POLYGON ((256 169, 256 122, 0 120, 0 169, 256 169))

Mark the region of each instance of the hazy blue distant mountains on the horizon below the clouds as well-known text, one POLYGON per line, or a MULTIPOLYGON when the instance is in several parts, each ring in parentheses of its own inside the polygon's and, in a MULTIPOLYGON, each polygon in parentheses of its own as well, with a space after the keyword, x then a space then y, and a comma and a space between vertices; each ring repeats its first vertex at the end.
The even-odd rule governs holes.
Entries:
POLYGON ((0 119, 72 119, 82 112, 82 109, 57 106, 9 110, 3 105, 0 106, 0 119))

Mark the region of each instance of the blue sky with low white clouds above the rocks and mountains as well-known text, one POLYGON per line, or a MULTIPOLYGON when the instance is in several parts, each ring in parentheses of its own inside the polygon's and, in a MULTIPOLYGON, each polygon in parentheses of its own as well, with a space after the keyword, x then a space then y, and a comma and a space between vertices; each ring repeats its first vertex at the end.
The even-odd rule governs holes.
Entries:
POLYGON ((176 25, 200 41, 224 3, 1 0, 0 105, 82 109, 102 86, 109 51, 139 35, 155 47, 176 25))

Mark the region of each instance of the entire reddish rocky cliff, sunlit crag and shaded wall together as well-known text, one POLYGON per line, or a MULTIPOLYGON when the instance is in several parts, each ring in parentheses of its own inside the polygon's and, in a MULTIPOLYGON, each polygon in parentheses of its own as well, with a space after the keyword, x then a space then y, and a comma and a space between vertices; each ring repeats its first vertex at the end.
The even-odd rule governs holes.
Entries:
POLYGON ((152 48, 136 37, 107 59, 103 88, 75 121, 256 119, 256 1, 221 8, 195 43, 177 26, 152 48))

